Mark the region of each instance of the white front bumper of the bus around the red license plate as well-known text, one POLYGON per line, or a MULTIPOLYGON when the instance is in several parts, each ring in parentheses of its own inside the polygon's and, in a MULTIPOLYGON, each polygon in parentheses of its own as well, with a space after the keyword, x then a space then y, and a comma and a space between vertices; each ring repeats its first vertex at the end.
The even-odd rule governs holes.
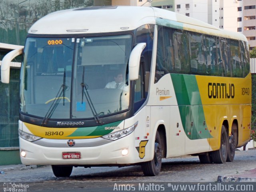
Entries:
POLYGON ((46 147, 20 138, 20 156, 25 165, 122 165, 142 162, 134 146, 134 134, 113 142, 91 147, 46 147), (127 150, 128 154, 122 154, 127 150), (25 152, 25 153, 24 153, 25 152), (80 158, 68 159, 63 154, 80 154, 80 158))

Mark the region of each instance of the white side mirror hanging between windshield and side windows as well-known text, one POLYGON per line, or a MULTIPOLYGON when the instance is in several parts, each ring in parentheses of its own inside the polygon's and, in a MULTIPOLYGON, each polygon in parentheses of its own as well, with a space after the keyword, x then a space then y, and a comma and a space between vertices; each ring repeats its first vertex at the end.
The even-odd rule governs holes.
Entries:
POLYGON ((139 78, 139 68, 140 68, 140 56, 144 48, 146 47, 146 43, 137 44, 129 58, 129 79, 137 80, 139 78))

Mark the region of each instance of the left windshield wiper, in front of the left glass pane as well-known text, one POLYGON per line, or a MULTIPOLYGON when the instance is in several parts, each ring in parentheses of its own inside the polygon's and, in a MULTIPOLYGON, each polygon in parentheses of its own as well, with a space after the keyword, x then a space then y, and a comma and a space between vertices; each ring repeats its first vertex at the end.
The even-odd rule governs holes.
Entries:
POLYGON ((60 103, 60 99, 63 98, 63 106, 65 105, 65 91, 68 88, 66 85, 66 69, 64 69, 64 76, 63 76, 63 84, 60 86, 60 90, 58 91, 56 97, 54 98, 52 105, 48 109, 41 125, 45 125, 48 119, 52 116, 53 112, 57 108, 58 104, 60 103), (62 96, 62 97, 61 97, 62 96))

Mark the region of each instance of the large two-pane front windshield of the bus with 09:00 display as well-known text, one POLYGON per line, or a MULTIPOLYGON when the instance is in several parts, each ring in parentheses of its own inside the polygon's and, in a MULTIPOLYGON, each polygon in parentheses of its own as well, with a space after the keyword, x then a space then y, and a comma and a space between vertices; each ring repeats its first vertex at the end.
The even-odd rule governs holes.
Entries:
POLYGON ((28 37, 21 112, 47 120, 98 118, 129 108, 132 35, 28 37))

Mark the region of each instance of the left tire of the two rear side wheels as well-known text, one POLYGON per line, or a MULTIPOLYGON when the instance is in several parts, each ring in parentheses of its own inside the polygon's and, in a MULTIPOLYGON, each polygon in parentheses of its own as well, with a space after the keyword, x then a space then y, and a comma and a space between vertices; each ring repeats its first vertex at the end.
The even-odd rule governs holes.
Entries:
POLYGON ((212 161, 214 163, 222 164, 225 163, 228 156, 228 136, 226 128, 222 125, 220 134, 220 149, 211 152, 212 161))

